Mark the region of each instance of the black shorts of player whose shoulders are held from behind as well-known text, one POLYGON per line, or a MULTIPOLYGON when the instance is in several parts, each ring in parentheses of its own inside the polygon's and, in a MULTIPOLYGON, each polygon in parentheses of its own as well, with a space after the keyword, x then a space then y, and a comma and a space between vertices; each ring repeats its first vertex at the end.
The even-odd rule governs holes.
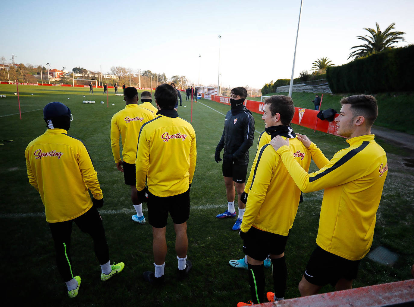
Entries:
POLYGON ((247 237, 243 240, 243 252, 258 261, 263 261, 268 254, 280 255, 286 247, 287 236, 272 234, 255 227, 250 227, 247 237))

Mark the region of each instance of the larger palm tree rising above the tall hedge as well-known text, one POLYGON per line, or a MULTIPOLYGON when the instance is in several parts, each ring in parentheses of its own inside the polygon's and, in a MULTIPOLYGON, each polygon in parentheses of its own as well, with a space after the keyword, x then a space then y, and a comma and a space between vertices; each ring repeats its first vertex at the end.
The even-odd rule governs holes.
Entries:
POLYGON ((363 45, 353 46, 350 50, 355 49, 349 54, 348 58, 359 58, 361 56, 366 56, 373 54, 375 52, 383 51, 385 48, 394 48, 393 44, 396 44, 399 41, 405 41, 402 37, 405 32, 400 31, 391 31, 394 28, 395 22, 390 24, 384 32, 381 32, 378 22, 375 22, 377 29, 364 28, 371 35, 357 36, 357 39, 361 39, 365 42, 363 45))

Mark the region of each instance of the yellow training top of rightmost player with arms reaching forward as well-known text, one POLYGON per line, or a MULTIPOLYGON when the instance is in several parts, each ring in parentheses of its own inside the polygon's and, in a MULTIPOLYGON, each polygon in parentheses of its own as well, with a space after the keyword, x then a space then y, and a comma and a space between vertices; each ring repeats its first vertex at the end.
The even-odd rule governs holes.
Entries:
POLYGON ((337 256, 359 260, 371 248, 388 164, 373 134, 347 142, 349 148, 310 174, 303 171, 289 147, 282 146, 277 153, 303 192, 325 189, 316 243, 337 256))

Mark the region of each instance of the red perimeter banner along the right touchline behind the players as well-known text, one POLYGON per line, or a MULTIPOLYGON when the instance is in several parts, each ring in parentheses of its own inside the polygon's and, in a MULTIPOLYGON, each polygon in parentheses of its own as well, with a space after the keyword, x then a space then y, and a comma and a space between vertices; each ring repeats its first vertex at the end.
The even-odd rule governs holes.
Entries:
MULTIPOLYGON (((217 96, 211 95, 211 100, 216 102, 223 103, 225 105, 230 105, 230 97, 225 96, 217 96)), ((263 114, 263 109, 265 107, 264 102, 256 101, 256 100, 246 100, 245 101, 246 107, 255 113, 263 114)), ((338 136, 336 132, 336 124, 334 121, 328 122, 327 120, 320 120, 316 115, 319 111, 317 110, 310 110, 310 109, 303 109, 295 107, 295 115, 293 116, 292 123, 301 125, 303 127, 307 127, 310 129, 315 129, 318 131, 326 132, 329 134, 333 134, 338 136)), ((335 115, 335 118, 339 114, 335 115)))

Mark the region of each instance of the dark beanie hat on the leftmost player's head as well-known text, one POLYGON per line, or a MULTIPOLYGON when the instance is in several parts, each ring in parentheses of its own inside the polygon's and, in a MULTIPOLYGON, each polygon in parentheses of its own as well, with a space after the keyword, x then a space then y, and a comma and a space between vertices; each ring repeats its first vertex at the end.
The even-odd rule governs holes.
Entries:
POLYGON ((48 128, 69 130, 70 109, 62 102, 50 102, 43 108, 43 119, 48 128))

